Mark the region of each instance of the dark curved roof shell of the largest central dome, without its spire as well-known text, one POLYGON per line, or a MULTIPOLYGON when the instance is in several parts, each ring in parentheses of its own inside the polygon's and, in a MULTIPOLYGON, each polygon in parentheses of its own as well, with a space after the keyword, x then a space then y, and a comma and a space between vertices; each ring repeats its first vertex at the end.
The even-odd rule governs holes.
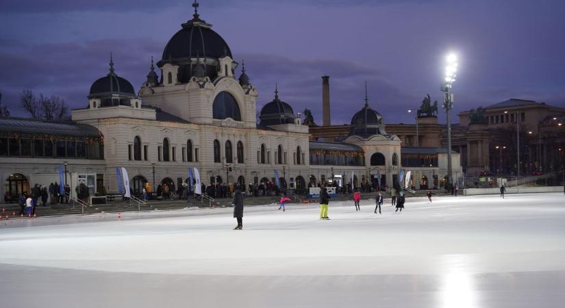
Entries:
POLYGON ((225 40, 206 23, 189 21, 166 44, 163 61, 191 57, 231 57, 225 40))

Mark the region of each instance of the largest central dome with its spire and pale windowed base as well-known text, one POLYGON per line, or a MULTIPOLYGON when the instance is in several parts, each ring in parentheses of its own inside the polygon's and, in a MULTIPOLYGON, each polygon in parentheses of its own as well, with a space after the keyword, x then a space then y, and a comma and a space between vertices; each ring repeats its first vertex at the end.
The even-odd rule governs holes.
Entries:
POLYGON ((194 66, 203 65, 205 76, 233 77, 237 63, 225 40, 212 30, 212 25, 200 19, 199 3, 194 1, 193 18, 182 24, 182 29, 168 41, 162 59, 157 65, 162 69, 160 84, 187 84, 193 76, 194 66), (199 59, 202 63, 199 64, 199 59))

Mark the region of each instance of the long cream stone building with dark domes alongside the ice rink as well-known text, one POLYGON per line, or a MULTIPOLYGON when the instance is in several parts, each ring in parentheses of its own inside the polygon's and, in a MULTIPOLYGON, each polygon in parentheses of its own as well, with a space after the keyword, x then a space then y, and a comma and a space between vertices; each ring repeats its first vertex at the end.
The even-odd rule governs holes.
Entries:
POLYGON ((151 60, 140 90, 118 75, 117 63, 110 57, 108 73, 93 82, 88 104, 72 110, 71 122, 0 119, 4 196, 58 181, 63 164, 66 183, 84 182, 91 195, 118 190, 116 167, 127 169, 135 192, 145 182, 178 188, 193 167, 207 185, 274 181, 276 170, 284 188, 292 183, 302 192, 308 183, 398 181, 401 139, 386 131, 367 97, 347 137, 333 142, 310 140, 310 127, 277 88, 257 121, 260 97, 243 62, 236 77, 240 64, 229 45, 196 10, 156 67, 151 60))

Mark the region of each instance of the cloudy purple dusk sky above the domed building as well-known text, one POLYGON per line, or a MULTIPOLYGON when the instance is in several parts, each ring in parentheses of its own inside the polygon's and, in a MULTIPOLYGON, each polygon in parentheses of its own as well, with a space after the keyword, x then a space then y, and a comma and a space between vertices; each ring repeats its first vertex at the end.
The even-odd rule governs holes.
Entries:
MULTIPOLYGON (((444 55, 455 51, 456 114, 506 99, 565 107, 565 1, 200 1, 199 13, 245 60, 258 111, 279 97, 321 123, 321 76, 329 75, 332 124, 369 103, 386 123, 414 123, 406 110, 425 94, 441 101, 444 55)), ((138 90, 191 1, 0 0, 0 92, 12 115, 19 94, 57 95, 84 107, 90 85, 116 73, 138 90)), ((238 73, 239 75, 239 69, 238 73)), ((440 121, 444 121, 440 110, 440 121)), ((454 116, 453 120, 457 120, 454 116)))

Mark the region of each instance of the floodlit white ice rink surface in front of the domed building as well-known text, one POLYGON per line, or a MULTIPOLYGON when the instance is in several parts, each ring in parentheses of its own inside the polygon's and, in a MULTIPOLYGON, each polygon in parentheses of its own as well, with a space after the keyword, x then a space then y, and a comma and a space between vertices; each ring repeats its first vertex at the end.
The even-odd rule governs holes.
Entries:
POLYGON ((373 202, 27 220, 0 229, 0 305, 565 307, 564 194, 373 202))

